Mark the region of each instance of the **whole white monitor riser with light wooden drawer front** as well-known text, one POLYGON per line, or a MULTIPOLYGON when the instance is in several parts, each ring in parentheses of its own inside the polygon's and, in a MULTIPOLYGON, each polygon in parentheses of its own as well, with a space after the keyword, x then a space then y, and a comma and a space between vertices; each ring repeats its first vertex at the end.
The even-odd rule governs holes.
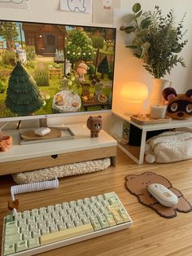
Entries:
POLYGON ((13 145, 9 151, 0 152, 0 175, 105 157, 111 157, 115 164, 117 143, 104 130, 98 138, 90 138, 85 124, 68 127, 74 133, 74 139, 26 145, 20 145, 18 130, 5 131, 3 135, 11 135, 13 145))

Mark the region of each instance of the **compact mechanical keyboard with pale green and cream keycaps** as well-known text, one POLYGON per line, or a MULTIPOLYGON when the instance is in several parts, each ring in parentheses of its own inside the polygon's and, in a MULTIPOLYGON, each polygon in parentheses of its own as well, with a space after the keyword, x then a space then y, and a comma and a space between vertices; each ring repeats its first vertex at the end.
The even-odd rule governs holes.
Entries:
POLYGON ((2 255, 34 255, 131 227, 116 192, 7 215, 2 255))

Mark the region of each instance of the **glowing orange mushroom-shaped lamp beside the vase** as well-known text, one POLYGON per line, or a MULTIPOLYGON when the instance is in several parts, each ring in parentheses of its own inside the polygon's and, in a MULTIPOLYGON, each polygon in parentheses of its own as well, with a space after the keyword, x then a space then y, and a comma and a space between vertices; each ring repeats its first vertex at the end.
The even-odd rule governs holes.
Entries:
POLYGON ((120 97, 125 101, 127 113, 142 113, 143 102, 148 97, 148 88, 141 82, 129 82, 122 86, 120 97))

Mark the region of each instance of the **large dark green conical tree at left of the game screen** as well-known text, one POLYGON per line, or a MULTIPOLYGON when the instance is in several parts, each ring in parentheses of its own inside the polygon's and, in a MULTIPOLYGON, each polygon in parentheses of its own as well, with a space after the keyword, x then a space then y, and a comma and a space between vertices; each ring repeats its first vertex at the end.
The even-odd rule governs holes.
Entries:
POLYGON ((7 87, 7 108, 19 115, 31 115, 42 106, 41 92, 27 69, 17 62, 7 87))

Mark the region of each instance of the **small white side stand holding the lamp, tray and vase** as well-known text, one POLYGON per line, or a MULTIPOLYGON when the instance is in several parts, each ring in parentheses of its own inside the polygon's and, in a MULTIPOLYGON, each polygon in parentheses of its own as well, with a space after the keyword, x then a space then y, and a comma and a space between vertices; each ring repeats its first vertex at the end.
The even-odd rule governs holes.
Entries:
POLYGON ((168 123, 153 124, 153 125, 138 125, 136 122, 131 121, 129 115, 120 111, 112 112, 111 123, 111 135, 122 135, 123 123, 128 121, 133 126, 137 126, 142 130, 141 147, 130 146, 129 144, 118 143, 118 147, 121 148, 129 157, 136 161, 137 164, 142 164, 144 161, 145 145, 146 145, 146 132, 150 130, 167 130, 172 128, 181 128, 192 126, 192 118, 186 120, 172 120, 168 123))

